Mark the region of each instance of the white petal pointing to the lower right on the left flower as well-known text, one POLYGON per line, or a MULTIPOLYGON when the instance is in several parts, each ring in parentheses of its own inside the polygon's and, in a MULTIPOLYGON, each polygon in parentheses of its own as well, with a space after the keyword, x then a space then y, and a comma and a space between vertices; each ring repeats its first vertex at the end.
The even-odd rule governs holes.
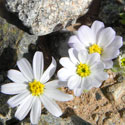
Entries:
POLYGON ((54 100, 48 98, 47 96, 40 96, 41 102, 45 108, 54 116, 59 117, 62 115, 62 111, 54 100))

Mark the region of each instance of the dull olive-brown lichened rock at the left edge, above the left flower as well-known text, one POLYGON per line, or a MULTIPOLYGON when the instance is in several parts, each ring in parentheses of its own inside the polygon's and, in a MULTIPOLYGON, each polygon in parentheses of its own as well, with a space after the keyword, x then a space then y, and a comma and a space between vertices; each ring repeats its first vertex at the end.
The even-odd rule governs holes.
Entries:
POLYGON ((15 26, 8 24, 7 21, 0 17, 0 55, 8 46, 14 48, 16 40, 20 40, 22 36, 21 30, 15 26))

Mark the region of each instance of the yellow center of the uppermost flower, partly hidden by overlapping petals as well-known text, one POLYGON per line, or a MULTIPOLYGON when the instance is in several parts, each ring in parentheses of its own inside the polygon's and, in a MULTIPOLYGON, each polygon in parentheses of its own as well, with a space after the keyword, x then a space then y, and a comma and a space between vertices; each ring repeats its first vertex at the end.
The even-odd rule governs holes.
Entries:
POLYGON ((93 44, 92 46, 89 47, 89 53, 99 53, 102 54, 103 49, 99 47, 97 44, 93 44))

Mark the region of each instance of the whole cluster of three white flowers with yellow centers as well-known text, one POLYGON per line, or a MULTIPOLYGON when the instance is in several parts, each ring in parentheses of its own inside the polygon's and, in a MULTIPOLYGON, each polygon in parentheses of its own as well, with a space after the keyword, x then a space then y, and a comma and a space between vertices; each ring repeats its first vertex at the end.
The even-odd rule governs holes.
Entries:
POLYGON ((59 88, 66 82, 67 87, 80 96, 83 90, 100 87, 108 78, 104 69, 113 66, 112 59, 119 55, 122 46, 122 37, 116 36, 115 31, 104 24, 95 21, 91 28, 82 26, 76 35, 69 39, 69 57, 62 57, 63 66, 57 76, 59 80, 48 81, 56 70, 56 61, 52 58, 50 66, 44 71, 42 52, 36 52, 33 64, 23 58, 17 61, 20 71, 11 69, 8 78, 12 83, 1 86, 1 92, 15 95, 8 100, 11 107, 18 107, 15 117, 23 120, 30 112, 32 124, 38 124, 42 105, 54 116, 59 117, 62 111, 57 101, 69 101, 72 95, 63 93, 59 88))

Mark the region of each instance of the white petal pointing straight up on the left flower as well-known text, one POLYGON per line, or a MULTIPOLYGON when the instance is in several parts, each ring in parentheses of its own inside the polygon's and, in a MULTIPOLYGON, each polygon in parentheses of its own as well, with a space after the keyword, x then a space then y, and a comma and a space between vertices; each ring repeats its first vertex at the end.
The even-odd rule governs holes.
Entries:
POLYGON ((40 81, 40 77, 43 73, 43 68, 44 68, 43 53, 36 52, 33 57, 33 73, 34 73, 34 78, 37 81, 40 81))

